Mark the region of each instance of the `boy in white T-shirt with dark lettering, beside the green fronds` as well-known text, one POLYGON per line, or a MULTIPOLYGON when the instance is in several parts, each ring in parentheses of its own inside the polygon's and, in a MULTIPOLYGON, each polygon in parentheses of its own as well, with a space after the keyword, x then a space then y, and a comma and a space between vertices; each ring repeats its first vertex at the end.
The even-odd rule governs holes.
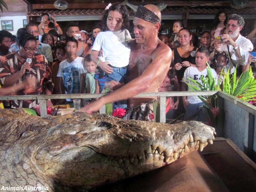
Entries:
MULTIPOLYGON (((185 70, 181 91, 193 91, 188 89, 188 85, 186 84, 190 82, 189 77, 191 79, 196 80, 198 83, 201 83, 200 77, 202 75, 204 77, 208 75, 207 69, 206 69, 207 68, 206 61, 208 62, 209 59, 210 59, 209 50, 204 46, 200 47, 196 53, 196 66, 188 67, 185 70)), ((216 71, 212 68, 210 68, 210 70, 212 72, 214 79, 216 79, 217 78, 216 71)), ((201 109, 201 111, 199 111, 197 115, 195 115, 193 120, 207 122, 206 111, 204 110, 203 107, 201 107, 202 105, 204 105, 204 103, 198 96, 182 96, 182 100, 183 100, 184 108, 186 109, 186 113, 184 116, 185 120, 193 117, 199 111, 199 109, 201 109)))

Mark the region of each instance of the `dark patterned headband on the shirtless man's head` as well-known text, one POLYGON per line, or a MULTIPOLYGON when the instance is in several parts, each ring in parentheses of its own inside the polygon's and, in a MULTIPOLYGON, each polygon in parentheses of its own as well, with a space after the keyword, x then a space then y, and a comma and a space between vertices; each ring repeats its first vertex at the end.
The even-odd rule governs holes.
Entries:
POLYGON ((149 9, 143 7, 143 5, 138 6, 137 12, 134 17, 138 17, 140 19, 143 19, 145 21, 149 21, 151 23, 160 23, 161 19, 155 15, 152 11, 149 9))

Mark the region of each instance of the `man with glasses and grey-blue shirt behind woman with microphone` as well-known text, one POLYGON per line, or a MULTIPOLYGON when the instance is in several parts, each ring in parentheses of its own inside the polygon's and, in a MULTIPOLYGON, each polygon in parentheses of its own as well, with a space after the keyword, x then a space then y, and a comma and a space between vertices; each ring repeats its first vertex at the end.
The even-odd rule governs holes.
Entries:
MULTIPOLYGON (((39 37, 38 25, 34 23, 29 23, 28 25, 26 25, 26 32, 30 33, 31 35, 34 35, 34 37, 36 38, 39 37)), ((36 53, 43 54, 47 58, 48 62, 53 63, 51 47, 46 43, 39 42, 38 39, 36 53)))

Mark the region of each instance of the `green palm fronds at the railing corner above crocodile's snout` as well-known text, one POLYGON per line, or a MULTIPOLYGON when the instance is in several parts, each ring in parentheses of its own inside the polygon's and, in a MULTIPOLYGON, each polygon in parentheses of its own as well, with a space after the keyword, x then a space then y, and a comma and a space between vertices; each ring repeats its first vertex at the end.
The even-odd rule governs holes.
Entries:
MULTIPOLYGON (((253 77, 252 69, 245 71, 237 76, 236 68, 233 74, 230 71, 221 72, 218 79, 214 79, 210 66, 207 63, 206 77, 201 76, 201 83, 189 78, 190 82, 186 82, 188 87, 193 91, 223 91, 236 96, 244 101, 254 101, 256 100, 256 79, 253 77), (222 82, 221 82, 222 81, 222 82)), ((209 123, 215 125, 216 117, 219 112, 219 107, 217 106, 217 96, 198 96, 204 102, 204 108, 206 109, 209 123)))

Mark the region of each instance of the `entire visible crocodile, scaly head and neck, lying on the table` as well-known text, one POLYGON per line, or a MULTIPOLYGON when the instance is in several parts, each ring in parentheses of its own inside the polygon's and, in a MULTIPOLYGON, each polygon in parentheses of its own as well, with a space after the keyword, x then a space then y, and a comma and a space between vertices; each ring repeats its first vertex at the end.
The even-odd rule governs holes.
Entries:
POLYGON ((0 109, 0 127, 4 191, 83 191, 165 166, 214 139, 214 128, 197 121, 168 125, 82 112, 42 118, 0 109))

